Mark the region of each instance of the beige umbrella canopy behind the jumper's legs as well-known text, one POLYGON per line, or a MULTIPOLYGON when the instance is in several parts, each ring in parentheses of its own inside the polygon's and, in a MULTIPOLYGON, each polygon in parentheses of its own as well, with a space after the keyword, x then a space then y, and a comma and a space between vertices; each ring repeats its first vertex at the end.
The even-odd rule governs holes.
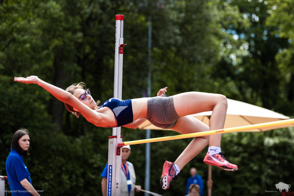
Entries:
MULTIPOLYGON (((201 112, 198 114, 193 114, 192 116, 201 120, 205 124, 209 126, 209 118, 212 114, 212 111, 209 112, 201 112)), ((263 107, 255 106, 252 104, 248 104, 245 102, 236 101, 233 99, 228 99, 228 109, 227 115, 225 119, 224 128, 231 127, 240 127, 250 124, 259 124, 265 122, 273 122, 278 120, 290 119, 288 116, 284 116, 283 114, 279 114, 269 109, 265 109, 263 107)), ((272 129, 278 129, 283 127, 292 127, 292 124, 281 125, 278 127, 265 127, 260 129, 252 129, 248 131, 268 131, 272 129)), ((143 122, 139 129, 161 129, 153 124, 151 124, 148 120, 143 122)), ((247 131, 247 132, 248 132, 247 131)))

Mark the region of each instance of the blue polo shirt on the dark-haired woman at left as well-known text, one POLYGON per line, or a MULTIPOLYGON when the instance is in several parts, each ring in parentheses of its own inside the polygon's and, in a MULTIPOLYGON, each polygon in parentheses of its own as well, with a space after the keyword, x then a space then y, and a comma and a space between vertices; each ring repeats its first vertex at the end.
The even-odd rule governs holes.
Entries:
POLYGON ((23 196, 31 194, 21 185, 20 181, 25 178, 32 184, 30 173, 24 165, 24 157, 16 150, 10 149, 10 153, 6 159, 6 173, 8 177, 9 187, 12 196, 23 196))

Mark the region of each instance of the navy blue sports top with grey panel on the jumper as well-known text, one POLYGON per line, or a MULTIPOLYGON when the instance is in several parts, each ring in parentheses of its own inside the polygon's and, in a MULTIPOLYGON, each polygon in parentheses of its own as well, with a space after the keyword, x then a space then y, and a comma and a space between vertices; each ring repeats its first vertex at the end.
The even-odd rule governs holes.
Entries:
POLYGON ((109 107, 112 110, 117 122, 116 127, 121 127, 123 125, 133 122, 133 109, 131 99, 121 100, 118 98, 111 98, 101 104, 103 104, 101 107, 109 107))

